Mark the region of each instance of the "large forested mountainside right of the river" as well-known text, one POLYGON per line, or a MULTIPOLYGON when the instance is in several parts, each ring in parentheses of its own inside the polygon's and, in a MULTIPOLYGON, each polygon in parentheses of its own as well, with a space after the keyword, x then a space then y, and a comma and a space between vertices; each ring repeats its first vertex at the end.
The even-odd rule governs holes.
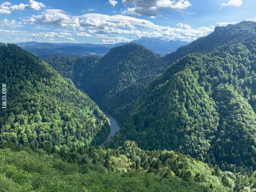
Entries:
POLYGON ((144 90, 111 145, 130 139, 144 149, 173 149, 220 166, 255 169, 255 30, 255 22, 217 28, 249 35, 169 66, 144 90))

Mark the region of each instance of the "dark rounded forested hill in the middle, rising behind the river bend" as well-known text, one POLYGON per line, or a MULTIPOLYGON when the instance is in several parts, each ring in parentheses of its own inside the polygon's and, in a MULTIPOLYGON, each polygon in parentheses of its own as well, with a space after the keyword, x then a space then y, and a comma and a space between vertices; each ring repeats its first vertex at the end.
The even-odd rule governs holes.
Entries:
POLYGON ((126 44, 111 49, 80 87, 122 120, 142 90, 165 68, 160 55, 138 44, 126 44))

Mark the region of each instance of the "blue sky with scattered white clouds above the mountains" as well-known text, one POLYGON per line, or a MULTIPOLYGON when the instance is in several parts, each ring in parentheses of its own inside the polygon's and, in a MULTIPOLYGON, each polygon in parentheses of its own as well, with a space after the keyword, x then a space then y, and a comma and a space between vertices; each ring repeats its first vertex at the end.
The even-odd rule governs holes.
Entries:
POLYGON ((0 42, 191 42, 215 26, 256 22, 255 10, 256 0, 0 1, 0 42))

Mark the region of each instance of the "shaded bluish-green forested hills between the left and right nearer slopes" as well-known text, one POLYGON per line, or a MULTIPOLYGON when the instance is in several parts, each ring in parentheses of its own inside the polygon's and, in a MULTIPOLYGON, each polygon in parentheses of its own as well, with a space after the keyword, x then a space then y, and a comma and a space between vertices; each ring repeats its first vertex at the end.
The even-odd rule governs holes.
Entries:
POLYGON ((101 59, 55 56, 45 61, 120 121, 142 90, 167 66, 160 55, 134 43, 114 47, 101 59))

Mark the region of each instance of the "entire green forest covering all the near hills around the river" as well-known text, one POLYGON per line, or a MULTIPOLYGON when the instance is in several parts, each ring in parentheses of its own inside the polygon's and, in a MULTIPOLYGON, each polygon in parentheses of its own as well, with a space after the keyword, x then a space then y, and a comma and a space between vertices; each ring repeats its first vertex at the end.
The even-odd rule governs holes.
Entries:
POLYGON ((132 43, 41 61, 2 43, 0 71, 0 192, 256 192, 256 22, 164 57, 132 43), (107 145, 98 105, 121 123, 107 145))

